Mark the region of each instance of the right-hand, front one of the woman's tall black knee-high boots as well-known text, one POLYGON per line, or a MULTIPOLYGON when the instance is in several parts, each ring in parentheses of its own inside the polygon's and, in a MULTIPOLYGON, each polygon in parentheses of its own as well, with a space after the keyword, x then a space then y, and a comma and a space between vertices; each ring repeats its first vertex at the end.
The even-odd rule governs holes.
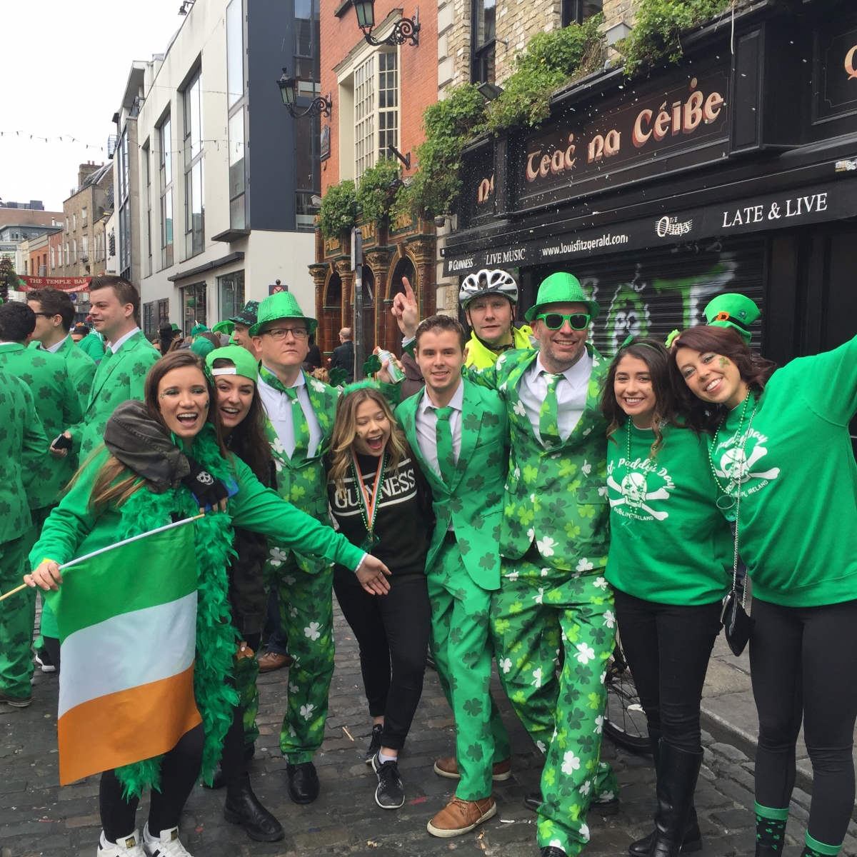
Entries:
POLYGON ((655 841, 650 857, 678 857, 680 854, 702 758, 701 751, 686 752, 660 742, 655 841))

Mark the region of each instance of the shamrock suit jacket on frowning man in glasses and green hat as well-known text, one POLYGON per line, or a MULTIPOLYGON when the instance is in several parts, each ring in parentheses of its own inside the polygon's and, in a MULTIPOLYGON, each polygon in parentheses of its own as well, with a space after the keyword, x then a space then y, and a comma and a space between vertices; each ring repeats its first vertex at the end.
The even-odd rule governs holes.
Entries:
MULTIPOLYGON (((270 420, 267 420, 265 434, 271 445, 271 455, 277 468, 277 493, 301 512, 312 515, 322 524, 330 524, 327 512, 327 476, 323 458, 330 448, 333 434, 333 421, 336 418, 336 402, 339 390, 304 374, 309 393, 309 404, 313 407, 315 419, 321 428, 321 441, 311 457, 306 453, 289 458, 279 442, 277 432, 270 420)), ((295 554, 297 564, 306 572, 320 572, 327 567, 323 560, 295 554)))

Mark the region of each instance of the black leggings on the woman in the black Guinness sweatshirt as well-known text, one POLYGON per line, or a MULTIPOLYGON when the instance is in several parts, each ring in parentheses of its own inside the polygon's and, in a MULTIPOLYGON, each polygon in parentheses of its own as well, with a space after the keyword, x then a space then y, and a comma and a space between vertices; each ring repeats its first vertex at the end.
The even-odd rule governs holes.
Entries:
POLYGON ((393 584, 387 595, 337 578, 333 589, 360 646, 369 714, 384 716, 381 746, 401 750, 423 695, 431 626, 426 579, 393 584))

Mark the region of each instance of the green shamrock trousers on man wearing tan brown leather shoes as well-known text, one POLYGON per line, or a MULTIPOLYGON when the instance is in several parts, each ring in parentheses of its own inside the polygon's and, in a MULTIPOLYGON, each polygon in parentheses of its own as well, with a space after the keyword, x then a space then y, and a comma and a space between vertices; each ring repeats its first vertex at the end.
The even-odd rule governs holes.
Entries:
POLYGON ((473 582, 457 543, 440 548, 427 578, 432 654, 440 686, 455 715, 461 775, 455 795, 461 800, 482 800, 491 794, 491 766, 511 753, 490 691, 491 593, 473 582))

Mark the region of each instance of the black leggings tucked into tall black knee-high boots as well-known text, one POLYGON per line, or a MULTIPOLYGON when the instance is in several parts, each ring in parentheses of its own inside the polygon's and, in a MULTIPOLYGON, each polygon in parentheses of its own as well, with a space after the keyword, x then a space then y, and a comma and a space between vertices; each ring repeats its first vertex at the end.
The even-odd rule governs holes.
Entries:
POLYGON ((700 752, 699 702, 722 602, 687 607, 615 594, 622 651, 650 730, 679 750, 700 752))

